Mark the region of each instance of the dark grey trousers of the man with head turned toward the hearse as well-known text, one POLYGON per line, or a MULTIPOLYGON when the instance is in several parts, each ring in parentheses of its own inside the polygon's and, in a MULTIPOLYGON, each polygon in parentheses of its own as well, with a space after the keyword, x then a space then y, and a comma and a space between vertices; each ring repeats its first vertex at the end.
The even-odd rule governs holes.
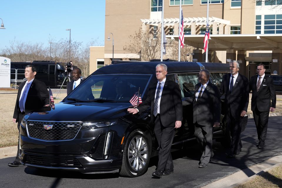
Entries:
POLYGON ((213 127, 195 123, 195 137, 202 152, 200 161, 208 164, 213 157, 213 127))

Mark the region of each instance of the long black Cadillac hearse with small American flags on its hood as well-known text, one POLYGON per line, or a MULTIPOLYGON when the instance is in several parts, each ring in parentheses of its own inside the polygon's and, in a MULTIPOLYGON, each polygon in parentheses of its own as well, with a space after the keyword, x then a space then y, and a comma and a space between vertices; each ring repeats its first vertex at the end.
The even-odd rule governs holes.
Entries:
MULTIPOLYGON (((139 115, 127 112, 129 100, 139 91, 146 99, 148 85, 156 81, 161 62, 134 62, 99 68, 76 87, 55 110, 43 109, 24 117, 20 128, 20 159, 29 167, 114 173, 137 177, 146 172, 158 143, 149 125, 150 109, 139 115), (119 87, 119 88, 117 88, 119 87), (123 97, 117 95, 123 92, 123 97)), ((167 79, 178 83, 182 100, 193 95, 201 69, 220 87, 229 71, 223 63, 163 62, 167 79)), ((222 108, 224 109, 224 108, 222 108)), ((222 115, 223 118, 223 115, 222 115)), ((214 129, 214 139, 230 139, 226 124, 214 129)), ((183 122, 176 130, 172 151, 195 140, 192 105, 183 106, 183 122)), ((195 144, 195 142, 193 142, 195 144)))

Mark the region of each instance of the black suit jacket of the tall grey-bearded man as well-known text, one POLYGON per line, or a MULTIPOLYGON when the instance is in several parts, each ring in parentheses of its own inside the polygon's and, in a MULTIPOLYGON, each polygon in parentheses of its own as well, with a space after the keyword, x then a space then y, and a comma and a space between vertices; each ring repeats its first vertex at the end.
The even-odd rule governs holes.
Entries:
POLYGON ((226 110, 231 110, 231 115, 235 118, 240 116, 241 111, 248 110, 249 104, 249 84, 248 78, 239 74, 232 92, 229 91, 229 81, 230 81, 231 74, 228 73, 222 77, 222 83, 220 86, 220 94, 225 94, 225 108, 226 110))

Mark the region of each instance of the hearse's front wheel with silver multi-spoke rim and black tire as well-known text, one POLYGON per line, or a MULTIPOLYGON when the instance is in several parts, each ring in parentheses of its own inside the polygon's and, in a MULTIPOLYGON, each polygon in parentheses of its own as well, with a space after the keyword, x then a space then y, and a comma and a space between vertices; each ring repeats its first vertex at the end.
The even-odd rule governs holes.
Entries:
POLYGON ((132 131, 124 146, 119 174, 123 177, 138 177, 145 174, 150 156, 151 148, 146 134, 140 129, 132 131))

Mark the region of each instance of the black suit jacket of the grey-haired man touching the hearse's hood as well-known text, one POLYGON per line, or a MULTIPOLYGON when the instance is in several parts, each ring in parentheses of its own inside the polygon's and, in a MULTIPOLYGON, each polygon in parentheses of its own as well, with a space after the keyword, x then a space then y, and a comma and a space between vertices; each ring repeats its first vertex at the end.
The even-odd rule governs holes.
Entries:
MULTIPOLYGON (((137 108, 139 113, 142 113, 147 108, 151 107, 151 123, 153 122, 154 117, 153 111, 157 83, 158 82, 155 82, 149 87, 148 97, 137 108)), ((160 101, 160 118, 163 126, 175 126, 175 121, 182 121, 182 111, 183 109, 179 86, 177 83, 166 79, 160 101)))

